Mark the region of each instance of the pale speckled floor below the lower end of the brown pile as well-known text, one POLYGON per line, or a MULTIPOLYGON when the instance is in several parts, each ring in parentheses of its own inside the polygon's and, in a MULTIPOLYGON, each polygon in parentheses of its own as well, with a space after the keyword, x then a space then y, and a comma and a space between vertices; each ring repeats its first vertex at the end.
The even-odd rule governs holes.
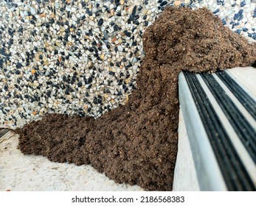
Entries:
POLYGON ((0 139, 0 191, 142 191, 137 185, 117 184, 91 166, 24 155, 17 145, 18 135, 11 132, 0 139))

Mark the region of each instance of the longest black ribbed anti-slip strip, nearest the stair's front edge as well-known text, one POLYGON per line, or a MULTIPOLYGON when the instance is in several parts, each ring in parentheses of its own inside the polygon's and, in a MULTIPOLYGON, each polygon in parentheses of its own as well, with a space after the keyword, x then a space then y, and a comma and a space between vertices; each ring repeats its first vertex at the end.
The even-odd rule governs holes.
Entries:
POLYGON ((226 130, 221 124, 220 118, 215 113, 196 75, 184 72, 184 77, 187 79, 187 84, 220 166, 226 187, 229 191, 255 191, 255 185, 243 166, 226 130))

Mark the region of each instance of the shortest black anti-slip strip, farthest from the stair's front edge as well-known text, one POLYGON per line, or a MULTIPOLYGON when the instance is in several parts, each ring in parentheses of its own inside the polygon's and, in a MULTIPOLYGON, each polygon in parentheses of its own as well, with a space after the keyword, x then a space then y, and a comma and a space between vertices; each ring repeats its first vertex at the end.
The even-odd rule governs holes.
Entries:
POLYGON ((243 104, 243 107, 245 107, 248 113, 250 113, 250 115, 256 120, 255 100, 252 99, 252 97, 249 96, 248 93, 246 93, 245 90, 243 90, 243 88, 241 88, 241 86, 238 85, 238 83, 229 76, 229 74, 226 74, 226 71, 218 71, 215 74, 218 75, 218 77, 221 79, 222 82, 224 82, 226 87, 232 91, 238 101, 243 104))

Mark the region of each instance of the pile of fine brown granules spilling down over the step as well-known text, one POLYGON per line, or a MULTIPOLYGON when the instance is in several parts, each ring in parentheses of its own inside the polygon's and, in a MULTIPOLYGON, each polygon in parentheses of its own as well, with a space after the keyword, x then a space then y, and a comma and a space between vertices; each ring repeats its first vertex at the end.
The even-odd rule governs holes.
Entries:
POLYGON ((24 154, 91 164, 116 182, 170 191, 178 141, 178 74, 252 65, 256 46, 207 9, 167 7, 143 37, 138 89, 102 117, 50 114, 16 132, 24 154))

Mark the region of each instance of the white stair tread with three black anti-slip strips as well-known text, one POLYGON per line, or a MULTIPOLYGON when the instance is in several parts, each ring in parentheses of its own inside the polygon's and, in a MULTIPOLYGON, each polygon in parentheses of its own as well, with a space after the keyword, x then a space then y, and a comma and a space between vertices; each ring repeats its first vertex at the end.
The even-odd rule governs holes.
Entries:
MULTIPOLYGON (((201 191, 256 189, 255 71, 248 67, 179 74, 184 129, 201 191)), ((176 167, 185 153, 178 152, 176 167)), ((181 190, 182 180, 175 175, 174 185, 181 190)))

